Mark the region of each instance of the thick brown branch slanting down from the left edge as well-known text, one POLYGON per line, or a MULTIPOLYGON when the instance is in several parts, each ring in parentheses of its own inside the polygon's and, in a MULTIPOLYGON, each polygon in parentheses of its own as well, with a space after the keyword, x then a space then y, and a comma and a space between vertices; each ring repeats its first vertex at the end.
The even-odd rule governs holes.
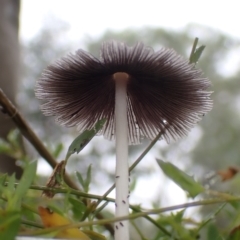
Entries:
MULTIPOLYGON (((7 98, 2 89, 0 88, 0 105, 2 106, 2 112, 9 115, 11 120, 16 124, 22 135, 34 146, 39 155, 43 157, 52 168, 57 165, 56 160, 53 158, 51 153, 46 149, 41 140, 33 132, 27 121, 18 112, 17 108, 12 104, 12 102, 7 98)), ((65 174, 64 180, 67 185, 73 189, 79 189, 79 187, 71 180, 71 178, 65 174)), ((97 218, 102 219, 102 215, 98 214, 97 218)), ((113 227, 110 224, 105 225, 105 228, 114 234, 113 227)))

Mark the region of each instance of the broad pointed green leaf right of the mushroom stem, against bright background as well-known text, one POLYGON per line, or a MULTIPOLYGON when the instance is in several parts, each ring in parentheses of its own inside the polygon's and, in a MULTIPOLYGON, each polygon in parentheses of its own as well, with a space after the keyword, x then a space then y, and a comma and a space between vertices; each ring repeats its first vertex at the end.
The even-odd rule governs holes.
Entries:
POLYGON ((199 193, 204 192, 204 187, 201 184, 173 164, 158 159, 157 163, 162 171, 179 187, 187 191, 192 198, 196 197, 199 193))

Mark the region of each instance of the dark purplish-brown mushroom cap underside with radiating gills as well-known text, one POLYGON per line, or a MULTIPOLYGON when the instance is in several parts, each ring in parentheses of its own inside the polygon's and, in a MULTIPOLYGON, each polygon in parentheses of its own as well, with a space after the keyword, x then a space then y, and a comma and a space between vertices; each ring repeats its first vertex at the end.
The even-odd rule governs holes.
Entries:
POLYGON ((212 108, 209 80, 174 50, 154 52, 142 43, 129 47, 110 41, 102 45, 99 59, 80 49, 47 67, 35 90, 46 101, 43 113, 80 131, 106 118, 102 134, 114 139, 116 72, 129 75, 130 144, 159 132, 167 141, 182 137, 212 108))

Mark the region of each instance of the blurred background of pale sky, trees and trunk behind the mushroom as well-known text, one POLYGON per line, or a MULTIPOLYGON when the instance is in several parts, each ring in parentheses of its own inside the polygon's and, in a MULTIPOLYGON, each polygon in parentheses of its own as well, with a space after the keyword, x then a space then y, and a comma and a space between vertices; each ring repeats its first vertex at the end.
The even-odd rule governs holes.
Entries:
MULTIPOLYGON (((200 45, 206 45, 198 67, 213 84, 213 110, 184 139, 156 144, 131 174, 130 202, 149 208, 187 201, 185 193, 163 176, 155 158, 174 163, 211 188, 239 193, 238 176, 226 183, 209 181, 217 171, 240 165, 238 9, 234 0, 0 0, 0 88, 48 149, 61 149, 60 161, 78 133, 75 128, 58 126, 39 110, 34 86, 48 64, 79 48, 98 56, 101 43, 110 39, 129 45, 142 41, 156 50, 173 48, 188 58, 198 37, 200 45)), ((10 119, 0 114, 1 138, 14 128, 10 119)), ((142 145, 131 146, 129 162, 148 144, 145 140, 142 145)), ((33 159, 39 158, 29 144, 25 148, 33 159)), ((16 172, 20 177, 19 160, 1 154, 0 171, 16 172)), ((71 157, 68 172, 73 174, 77 169, 84 175, 92 164, 90 192, 101 195, 114 181, 114 160, 114 144, 95 137, 81 154, 71 157)), ((43 159, 39 159, 38 173, 45 177, 51 174, 43 159)), ((201 210, 196 218, 207 211, 201 210)), ((221 216, 218 224, 225 224, 221 216)))

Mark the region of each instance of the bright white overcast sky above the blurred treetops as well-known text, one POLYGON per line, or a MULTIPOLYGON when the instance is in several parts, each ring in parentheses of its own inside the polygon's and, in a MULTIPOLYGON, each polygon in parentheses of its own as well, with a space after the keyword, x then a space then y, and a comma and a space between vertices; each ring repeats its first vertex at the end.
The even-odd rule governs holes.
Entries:
POLYGON ((70 24, 74 40, 107 29, 181 29, 189 23, 212 26, 240 38, 239 9, 238 0, 22 0, 20 35, 22 39, 33 36, 50 14, 70 24))

